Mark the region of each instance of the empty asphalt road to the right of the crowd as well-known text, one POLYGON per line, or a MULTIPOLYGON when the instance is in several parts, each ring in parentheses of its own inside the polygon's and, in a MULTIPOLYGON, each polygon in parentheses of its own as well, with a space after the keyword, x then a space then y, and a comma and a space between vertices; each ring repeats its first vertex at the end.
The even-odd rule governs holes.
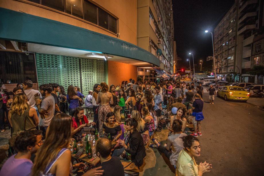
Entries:
MULTIPOLYGON (((190 79, 184 81, 191 85, 190 79)), ((218 97, 212 105, 206 91, 209 87, 203 87, 205 119, 201 122, 202 136, 198 136, 201 156, 195 160, 197 164, 207 161, 213 167, 204 175, 264 175, 264 111, 246 102, 218 97)))

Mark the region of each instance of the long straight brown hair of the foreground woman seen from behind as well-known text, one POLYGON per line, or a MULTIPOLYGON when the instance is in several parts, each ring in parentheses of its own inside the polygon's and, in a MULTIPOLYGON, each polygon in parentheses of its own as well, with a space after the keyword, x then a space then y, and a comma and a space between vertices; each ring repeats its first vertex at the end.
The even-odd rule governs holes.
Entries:
POLYGON ((32 167, 32 176, 44 173, 48 164, 56 158, 61 149, 68 147, 72 136, 71 123, 72 117, 65 113, 57 114, 52 118, 46 140, 38 149, 32 167))

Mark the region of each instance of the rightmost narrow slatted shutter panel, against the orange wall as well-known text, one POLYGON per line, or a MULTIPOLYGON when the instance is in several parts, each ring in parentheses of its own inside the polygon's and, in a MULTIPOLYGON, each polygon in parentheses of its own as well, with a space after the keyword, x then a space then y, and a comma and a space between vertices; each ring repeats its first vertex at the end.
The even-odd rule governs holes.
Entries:
MULTIPOLYGON (((106 62, 101 60, 95 60, 95 83, 100 84, 101 82, 106 82, 106 62)), ((110 86, 110 85, 109 85, 110 86)))

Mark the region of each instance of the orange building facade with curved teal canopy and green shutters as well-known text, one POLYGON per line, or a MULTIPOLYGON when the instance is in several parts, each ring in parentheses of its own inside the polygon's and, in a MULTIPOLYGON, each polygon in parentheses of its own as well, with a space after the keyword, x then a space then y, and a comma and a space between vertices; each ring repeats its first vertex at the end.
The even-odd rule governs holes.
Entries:
MULTIPOLYGON (((146 2, 153 9, 156 1, 146 2)), ((29 78, 39 85, 56 82, 65 89, 72 84, 86 94, 95 83, 116 86, 130 78, 137 80, 137 67, 164 68, 166 62, 161 65, 156 53, 150 52, 150 42, 145 48, 139 41, 141 3, 145 1, 0 1, 4 26, 0 31, 1 82, 19 83, 29 78)), ((170 41, 167 28, 165 32, 170 41)), ((172 58, 168 41, 162 53, 172 58)), ((171 70, 171 62, 167 65, 171 70)))

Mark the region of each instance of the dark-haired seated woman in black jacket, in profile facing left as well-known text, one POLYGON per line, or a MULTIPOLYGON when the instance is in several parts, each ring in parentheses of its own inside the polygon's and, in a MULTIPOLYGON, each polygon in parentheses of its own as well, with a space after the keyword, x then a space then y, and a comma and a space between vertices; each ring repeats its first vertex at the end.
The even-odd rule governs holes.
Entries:
POLYGON ((138 122, 135 118, 127 119, 126 128, 131 134, 128 139, 129 146, 125 144, 124 140, 120 140, 119 143, 124 148, 114 150, 112 156, 120 156, 120 159, 125 161, 131 160, 137 167, 140 167, 143 165, 146 151, 142 136, 137 131, 137 125, 138 122), (131 154, 131 158, 127 153, 131 154))

